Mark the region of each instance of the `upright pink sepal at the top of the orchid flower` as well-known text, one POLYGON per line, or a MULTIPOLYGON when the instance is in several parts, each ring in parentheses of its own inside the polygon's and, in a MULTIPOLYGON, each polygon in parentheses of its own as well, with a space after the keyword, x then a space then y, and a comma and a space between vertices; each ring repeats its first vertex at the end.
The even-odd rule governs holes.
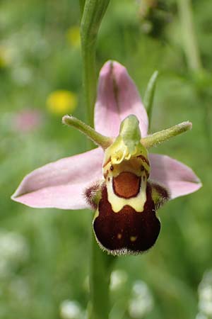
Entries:
POLYGON ((126 68, 108 61, 100 71, 98 96, 95 103, 95 130, 106 136, 119 135, 120 123, 134 114, 139 119, 141 136, 148 132, 148 116, 139 92, 126 68))

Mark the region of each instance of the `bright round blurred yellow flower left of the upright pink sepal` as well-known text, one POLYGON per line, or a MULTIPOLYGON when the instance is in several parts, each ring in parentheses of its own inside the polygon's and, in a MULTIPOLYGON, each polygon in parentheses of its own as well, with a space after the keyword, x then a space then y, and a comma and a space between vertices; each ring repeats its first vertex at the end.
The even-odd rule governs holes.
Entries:
POLYGON ((50 112, 62 115, 76 108, 77 96, 71 91, 57 90, 47 97, 47 108, 50 112))

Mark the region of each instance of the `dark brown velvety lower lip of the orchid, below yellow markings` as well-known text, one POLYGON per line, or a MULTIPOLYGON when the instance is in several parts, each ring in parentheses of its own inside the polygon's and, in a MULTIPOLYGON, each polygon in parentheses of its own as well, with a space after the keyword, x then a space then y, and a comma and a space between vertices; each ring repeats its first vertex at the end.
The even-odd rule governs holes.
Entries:
POLYGON ((147 183, 142 212, 126 205, 114 213, 107 199, 107 188, 102 187, 98 216, 93 220, 95 237, 102 249, 110 254, 138 254, 154 245, 160 233, 160 220, 151 193, 151 184, 147 183))

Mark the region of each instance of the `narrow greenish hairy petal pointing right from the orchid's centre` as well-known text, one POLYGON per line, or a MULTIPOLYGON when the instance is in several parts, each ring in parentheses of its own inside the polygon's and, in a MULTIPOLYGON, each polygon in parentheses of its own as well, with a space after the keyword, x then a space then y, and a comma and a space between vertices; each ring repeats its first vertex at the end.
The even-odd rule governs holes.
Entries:
POLYGON ((182 122, 172 126, 172 128, 167 128, 167 130, 160 130, 160 132, 148 135, 146 138, 141 138, 141 144, 146 148, 153 147, 187 130, 192 130, 192 123, 182 122))

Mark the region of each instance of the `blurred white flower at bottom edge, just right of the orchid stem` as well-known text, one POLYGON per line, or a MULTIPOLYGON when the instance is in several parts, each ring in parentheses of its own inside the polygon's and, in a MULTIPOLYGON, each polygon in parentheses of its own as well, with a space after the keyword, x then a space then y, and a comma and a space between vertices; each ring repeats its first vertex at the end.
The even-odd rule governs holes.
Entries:
POLYGON ((152 309, 153 296, 147 284, 141 280, 135 281, 129 301, 129 314, 132 318, 141 319, 152 309))

